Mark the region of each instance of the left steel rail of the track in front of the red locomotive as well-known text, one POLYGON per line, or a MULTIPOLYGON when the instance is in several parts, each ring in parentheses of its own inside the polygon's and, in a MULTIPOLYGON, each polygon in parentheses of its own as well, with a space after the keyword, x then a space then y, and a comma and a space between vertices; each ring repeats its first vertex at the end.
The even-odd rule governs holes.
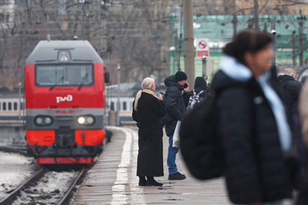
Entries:
POLYGON ((25 187, 29 186, 30 184, 32 184, 33 182, 37 181, 38 179, 42 178, 44 176, 44 174, 46 173, 46 171, 47 171, 47 169, 45 169, 44 167, 39 169, 31 177, 29 177, 25 182, 23 182, 18 187, 16 187, 14 189, 14 191, 11 192, 7 197, 2 199, 0 201, 0 205, 7 205, 7 204, 9 204, 19 194, 19 191, 22 188, 25 188, 25 187))

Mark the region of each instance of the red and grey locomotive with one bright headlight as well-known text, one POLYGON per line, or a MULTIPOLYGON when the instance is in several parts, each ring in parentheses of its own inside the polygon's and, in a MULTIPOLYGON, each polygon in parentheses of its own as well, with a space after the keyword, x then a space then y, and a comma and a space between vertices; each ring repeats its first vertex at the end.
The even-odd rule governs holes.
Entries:
POLYGON ((39 164, 93 163, 104 139, 104 67, 88 41, 40 41, 25 66, 26 140, 39 164))

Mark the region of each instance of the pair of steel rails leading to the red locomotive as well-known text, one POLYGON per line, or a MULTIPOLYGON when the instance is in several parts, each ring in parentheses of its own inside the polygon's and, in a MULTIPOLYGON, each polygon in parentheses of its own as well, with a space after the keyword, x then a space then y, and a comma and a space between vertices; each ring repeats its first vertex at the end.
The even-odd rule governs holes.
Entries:
MULTIPOLYGON (((21 190, 26 189, 27 187, 34 185, 35 182, 38 182, 47 172, 48 172, 48 170, 46 168, 39 169, 31 177, 29 177, 26 181, 24 181, 19 186, 17 186, 13 190, 11 190, 9 195, 6 196, 4 199, 2 199, 0 201, 0 205, 8 205, 10 203, 13 203, 13 201, 20 194, 21 190)), ((79 173, 77 174, 77 177, 74 178, 73 182, 70 184, 69 188, 66 190, 64 195, 62 197, 60 197, 60 200, 56 203, 57 205, 67 204, 67 202, 70 200, 72 192, 76 188, 77 183, 80 181, 80 179, 84 176, 85 173, 86 173, 86 169, 85 169, 85 167, 83 167, 79 171, 79 173)))

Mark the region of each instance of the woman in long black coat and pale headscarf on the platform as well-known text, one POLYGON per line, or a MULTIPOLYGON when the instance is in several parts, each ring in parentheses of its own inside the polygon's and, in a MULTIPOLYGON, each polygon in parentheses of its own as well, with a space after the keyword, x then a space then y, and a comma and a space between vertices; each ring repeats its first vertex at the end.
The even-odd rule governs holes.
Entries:
POLYGON ((133 103, 133 119, 138 123, 137 176, 139 186, 162 186, 154 177, 163 176, 162 124, 165 114, 162 96, 155 95, 155 81, 147 77, 133 103), (147 177, 147 179, 146 179, 147 177))

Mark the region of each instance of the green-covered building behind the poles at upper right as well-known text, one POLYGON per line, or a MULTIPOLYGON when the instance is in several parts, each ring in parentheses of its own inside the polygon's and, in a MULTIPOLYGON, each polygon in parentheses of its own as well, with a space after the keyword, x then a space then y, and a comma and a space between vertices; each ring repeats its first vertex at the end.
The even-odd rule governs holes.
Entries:
MULTIPOLYGON (((285 65, 293 64, 292 58, 292 33, 295 31, 295 48, 297 56, 297 64, 299 63, 299 15, 260 15, 260 30, 271 31, 272 25, 275 25, 276 35, 276 64, 285 65)), ((210 57, 207 60, 214 61, 214 70, 219 69, 219 61, 223 56, 222 48, 226 43, 230 42, 233 37, 234 27, 236 32, 240 32, 247 28, 252 28, 253 15, 237 15, 237 23, 234 22, 232 15, 208 15, 194 16, 194 38, 208 38, 210 47, 210 57)), ((184 68, 183 58, 183 37, 180 38, 179 33, 183 32, 183 23, 180 17, 170 17, 171 30, 171 47, 169 51, 170 67, 169 74, 174 74, 178 67, 184 68), (181 30, 182 32, 178 32, 181 30), (178 40, 179 39, 179 40, 178 40), (180 56, 180 59, 177 58, 180 56)), ((303 22, 304 34, 304 61, 308 59, 308 20, 303 22)), ((196 56, 196 53, 195 53, 196 56)), ((202 60, 195 57, 195 76, 202 76, 202 60)))

